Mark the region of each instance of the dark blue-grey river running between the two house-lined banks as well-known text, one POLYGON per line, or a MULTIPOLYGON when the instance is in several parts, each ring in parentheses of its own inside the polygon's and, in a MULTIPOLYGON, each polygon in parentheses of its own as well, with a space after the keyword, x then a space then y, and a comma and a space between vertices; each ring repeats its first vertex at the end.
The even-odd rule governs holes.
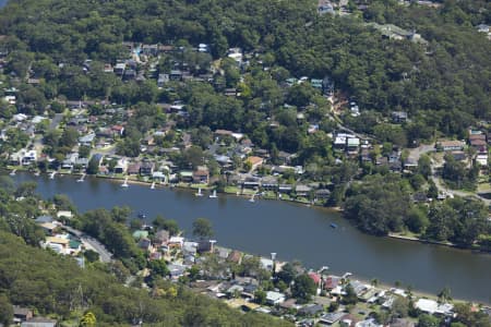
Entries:
POLYGON ((191 230, 197 217, 208 218, 217 243, 244 252, 284 261, 299 259, 304 266, 328 266, 333 274, 354 272, 387 284, 400 281, 415 290, 438 293, 450 287, 456 299, 491 303, 491 255, 409 241, 376 238, 359 232, 339 214, 323 208, 278 201, 256 201, 207 194, 194 196, 187 190, 155 189, 149 185, 121 187, 121 182, 57 175, 17 173, 16 182, 36 181, 43 197, 65 194, 86 211, 128 205, 134 215, 148 219, 157 214, 175 219, 191 230), (331 223, 338 227, 333 229, 331 223))

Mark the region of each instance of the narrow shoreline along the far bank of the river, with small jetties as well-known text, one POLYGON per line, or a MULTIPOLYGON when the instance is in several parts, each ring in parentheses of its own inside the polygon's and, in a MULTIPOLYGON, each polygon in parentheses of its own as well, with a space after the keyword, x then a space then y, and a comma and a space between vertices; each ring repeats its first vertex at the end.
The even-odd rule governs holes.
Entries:
MULTIPOLYGON (((26 170, 23 168, 5 168, 5 172, 9 171, 19 171, 19 172, 27 172, 27 173, 33 173, 33 171, 31 170, 26 170)), ((47 171, 44 174, 49 175, 51 172, 47 171)), ((95 179, 100 179, 100 180, 105 180, 105 181, 109 181, 109 182, 123 182, 127 180, 127 178, 123 177, 110 177, 110 175, 100 175, 100 174, 86 174, 83 172, 67 172, 67 171, 57 171, 56 174, 60 174, 60 175, 69 175, 69 177, 82 177, 85 174, 85 178, 95 178, 95 179)), ((10 175, 10 173, 9 173, 10 175)), ((140 185, 140 186, 146 186, 146 185, 152 185, 154 182, 153 181, 141 181, 141 180, 135 180, 135 179, 131 179, 128 178, 127 180, 128 184, 133 184, 133 185, 140 185)), ((194 184, 195 185, 195 184, 194 184)), ((196 187, 193 187, 193 184, 183 184, 183 183, 178 183, 178 184, 169 184, 167 183, 163 183, 163 182, 155 182, 155 189, 179 189, 179 190, 184 190, 184 191, 192 191, 192 190, 197 190, 196 187)), ((203 184, 203 189, 205 191, 211 191, 214 190, 214 187, 209 187, 208 185, 203 184)), ((238 197, 242 197, 242 198, 248 198, 251 194, 244 194, 244 193, 233 193, 233 192, 223 192, 221 194, 225 194, 227 196, 238 196, 238 197)), ((291 199, 291 198, 272 198, 272 197, 263 197, 261 195, 259 195, 259 198, 263 199, 263 201, 278 201, 278 202, 287 202, 287 203, 291 203, 294 205, 302 205, 306 207, 315 207, 316 209, 324 209, 324 210, 328 210, 328 211, 334 211, 334 213, 338 213, 342 214, 344 210, 342 207, 325 207, 322 205, 318 205, 318 204, 311 204, 311 203, 306 203, 302 201, 296 201, 296 199, 291 199)), ((354 228, 356 228, 356 226, 354 226, 354 228)), ((424 239, 418 239, 415 237, 406 237, 403 234, 398 234, 398 233, 394 233, 391 232, 387 235, 383 237, 383 238, 388 238, 388 239, 393 239, 393 240, 398 240, 398 241, 406 241, 406 242, 419 242, 421 244, 430 244, 430 245, 439 245, 439 246, 446 246, 446 247, 451 247, 451 249, 457 249, 457 250, 464 250, 464 251, 469 251, 470 254, 475 254, 476 252, 479 254, 491 254, 491 252, 489 251, 480 251, 480 250, 476 250, 476 249, 471 249, 471 247, 462 247, 458 246, 457 244, 454 244, 452 242, 440 242, 440 241, 432 241, 432 240, 424 240, 424 239)))

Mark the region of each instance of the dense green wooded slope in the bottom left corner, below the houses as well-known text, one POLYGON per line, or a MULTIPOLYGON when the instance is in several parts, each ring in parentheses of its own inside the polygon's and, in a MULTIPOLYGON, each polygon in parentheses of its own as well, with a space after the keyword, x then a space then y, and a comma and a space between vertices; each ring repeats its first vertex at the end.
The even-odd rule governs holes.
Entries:
MULTIPOLYGON (((141 317, 146 324, 165 326, 203 326, 200 322, 213 326, 288 325, 265 315, 241 315, 185 288, 180 288, 172 299, 151 298, 146 290, 127 288, 108 272, 81 269, 70 257, 27 246, 19 238, 1 231, 0 258, 0 293, 7 294, 10 302, 33 307, 41 315, 69 318, 72 310, 83 312, 89 305, 86 314, 91 312, 97 317, 97 325, 130 325, 141 317)), ((0 304, 10 303, 1 299, 0 304)), ((9 314, 2 311, 0 316, 9 317, 9 314)), ((84 320, 88 323, 86 316, 84 320)))

